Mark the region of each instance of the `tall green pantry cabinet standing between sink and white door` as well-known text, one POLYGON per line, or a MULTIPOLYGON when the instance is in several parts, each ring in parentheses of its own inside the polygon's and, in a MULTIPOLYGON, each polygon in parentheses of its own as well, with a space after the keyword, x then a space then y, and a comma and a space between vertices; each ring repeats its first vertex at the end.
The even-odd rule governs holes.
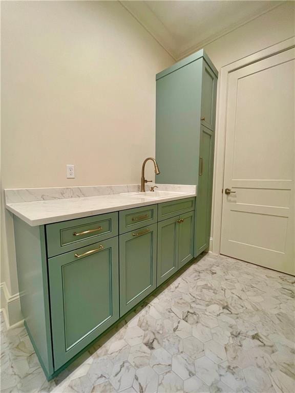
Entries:
POLYGON ((198 186, 195 257, 210 239, 217 78, 204 50, 156 76, 156 180, 198 186))

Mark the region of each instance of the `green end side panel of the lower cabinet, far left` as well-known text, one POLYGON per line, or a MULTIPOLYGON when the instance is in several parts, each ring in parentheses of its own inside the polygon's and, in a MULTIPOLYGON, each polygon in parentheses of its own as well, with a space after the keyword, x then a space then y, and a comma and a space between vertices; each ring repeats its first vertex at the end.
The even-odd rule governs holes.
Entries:
POLYGON ((47 377, 53 374, 44 226, 13 216, 20 307, 35 352, 47 377))

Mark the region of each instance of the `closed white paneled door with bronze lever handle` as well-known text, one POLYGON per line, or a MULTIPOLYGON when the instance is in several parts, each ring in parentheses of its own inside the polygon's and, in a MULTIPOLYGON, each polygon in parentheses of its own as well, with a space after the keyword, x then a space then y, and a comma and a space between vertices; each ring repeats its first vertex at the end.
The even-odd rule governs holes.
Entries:
POLYGON ((221 231, 221 254, 290 274, 294 59, 290 49, 229 74, 221 231))

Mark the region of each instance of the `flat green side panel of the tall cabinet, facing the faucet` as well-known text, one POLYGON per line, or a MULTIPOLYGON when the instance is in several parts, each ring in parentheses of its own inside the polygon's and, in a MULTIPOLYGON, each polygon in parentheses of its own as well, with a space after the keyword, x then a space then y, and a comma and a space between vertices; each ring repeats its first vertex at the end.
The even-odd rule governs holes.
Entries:
POLYGON ((198 184, 202 58, 157 80, 157 183, 198 184))

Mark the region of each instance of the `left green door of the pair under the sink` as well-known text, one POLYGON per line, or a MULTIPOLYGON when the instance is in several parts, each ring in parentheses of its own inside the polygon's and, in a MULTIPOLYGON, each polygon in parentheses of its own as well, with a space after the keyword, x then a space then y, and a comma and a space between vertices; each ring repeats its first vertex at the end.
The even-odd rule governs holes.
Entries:
POLYGON ((179 217, 158 223, 157 287, 178 270, 179 217))

